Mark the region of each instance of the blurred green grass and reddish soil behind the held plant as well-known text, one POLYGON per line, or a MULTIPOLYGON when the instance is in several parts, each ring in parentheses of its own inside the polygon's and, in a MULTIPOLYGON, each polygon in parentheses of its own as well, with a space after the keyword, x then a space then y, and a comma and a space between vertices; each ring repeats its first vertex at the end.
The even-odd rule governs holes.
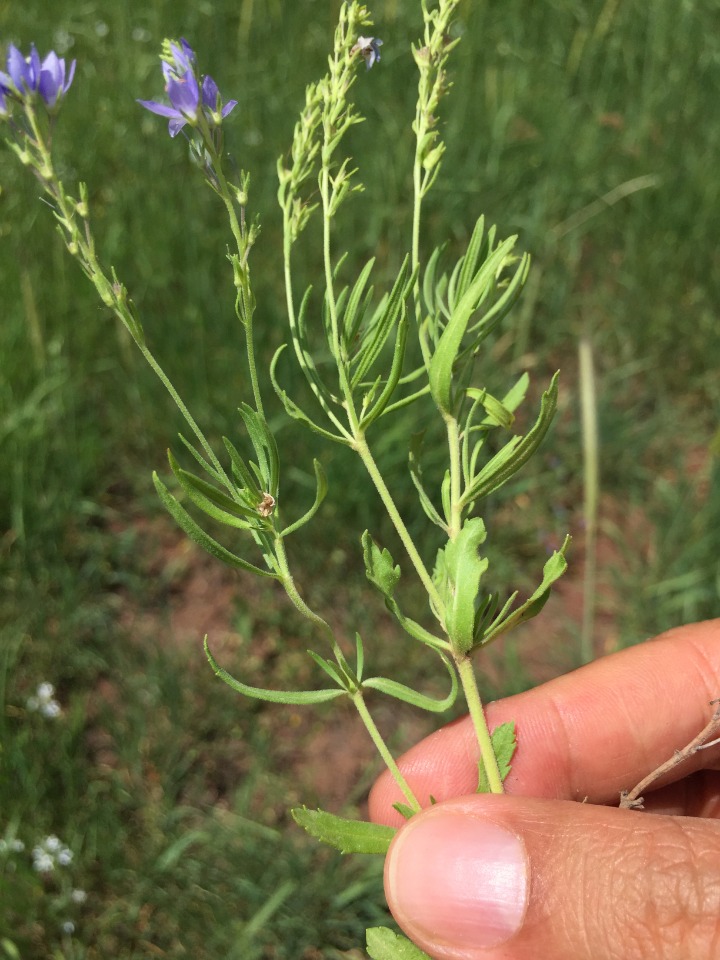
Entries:
MULTIPOLYGON (((0 0, 2 42, 77 57, 55 135, 64 176, 89 183, 104 262, 218 436, 237 433, 245 395, 222 211, 182 142, 134 100, 161 93, 160 42, 183 35, 240 101, 228 146, 253 173, 263 222, 254 276, 269 357, 284 338, 275 159, 338 6, 56 0, 49 17, 38 0, 0 0)), ((519 232, 534 267, 484 375, 502 389, 529 369, 537 395, 562 369, 552 436, 490 504, 496 585, 522 587, 566 531, 575 537, 546 613, 486 661, 488 693, 578 658, 581 337, 600 433, 596 652, 720 614, 718 14, 718 0, 462 6, 430 242, 462 244, 483 212, 501 235, 519 232)), ((351 257, 374 252, 389 274, 408 245, 409 43, 421 18, 414 0, 385 0, 375 17, 383 59, 357 84, 368 119, 352 141, 368 189, 348 208, 347 240, 351 257)), ((285 811, 361 806, 371 754, 349 715, 328 733, 317 714, 243 702, 204 664, 207 630, 263 685, 314 682, 307 628, 282 599, 217 571, 161 516, 150 470, 179 426, 169 400, 7 150, 0 184, 0 956, 359 957, 364 926, 382 916, 379 867, 307 845, 285 811), (41 682, 55 687, 57 717, 28 705, 41 682), (32 849, 51 835, 73 859, 44 875, 32 849)), ((311 277, 318 250, 305 258, 311 277)), ((284 490, 305 500, 308 436, 274 416, 292 465, 284 490)), ((398 421, 378 443, 412 520, 399 453, 411 426, 398 421)), ((356 543, 364 526, 391 532, 356 465, 335 449, 322 457, 337 495, 296 556, 303 585, 349 635, 359 616, 375 618, 365 634, 392 669, 401 653, 382 611, 368 613, 356 543)), ((397 746, 426 729, 378 706, 397 746)))

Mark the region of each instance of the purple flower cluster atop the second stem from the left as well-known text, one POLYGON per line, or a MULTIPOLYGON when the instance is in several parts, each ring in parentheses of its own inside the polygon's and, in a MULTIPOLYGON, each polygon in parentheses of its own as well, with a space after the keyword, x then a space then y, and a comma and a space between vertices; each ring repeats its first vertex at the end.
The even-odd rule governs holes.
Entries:
POLYGON ((237 106, 237 100, 228 100, 223 106, 220 91, 212 77, 202 77, 198 82, 195 52, 187 40, 181 39, 179 44, 166 40, 163 51, 162 71, 170 105, 158 103, 157 100, 138 100, 140 106, 167 117, 171 137, 177 136, 186 123, 197 126, 201 111, 211 127, 219 126, 237 106))

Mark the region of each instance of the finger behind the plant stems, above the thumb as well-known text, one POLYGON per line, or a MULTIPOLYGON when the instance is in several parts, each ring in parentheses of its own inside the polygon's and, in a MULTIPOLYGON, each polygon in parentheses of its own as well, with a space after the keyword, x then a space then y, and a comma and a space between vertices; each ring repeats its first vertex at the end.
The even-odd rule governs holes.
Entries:
MULTIPOLYGON (((617 801, 706 725, 720 696, 720 619, 678 627, 534 690, 488 705, 491 729, 514 720, 510 794, 617 801)), ((399 761, 423 806, 474 793, 479 749, 468 717, 431 734, 399 761)), ((697 753, 674 779, 720 768, 720 749, 697 753)), ((667 780, 664 782, 668 782, 667 780)), ((385 772, 370 793, 373 820, 397 825, 402 801, 385 772)))

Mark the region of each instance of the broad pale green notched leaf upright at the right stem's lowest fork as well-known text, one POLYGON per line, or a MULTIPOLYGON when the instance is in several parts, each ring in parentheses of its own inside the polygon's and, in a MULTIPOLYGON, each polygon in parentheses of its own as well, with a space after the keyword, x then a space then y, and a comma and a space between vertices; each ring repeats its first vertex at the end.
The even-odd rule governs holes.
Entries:
POLYGON ((480 517, 473 517, 441 551, 444 563, 438 566, 443 570, 440 596, 445 602, 445 629, 459 654, 468 653, 473 646, 476 600, 488 568, 487 557, 479 553, 485 537, 485 524, 480 517))

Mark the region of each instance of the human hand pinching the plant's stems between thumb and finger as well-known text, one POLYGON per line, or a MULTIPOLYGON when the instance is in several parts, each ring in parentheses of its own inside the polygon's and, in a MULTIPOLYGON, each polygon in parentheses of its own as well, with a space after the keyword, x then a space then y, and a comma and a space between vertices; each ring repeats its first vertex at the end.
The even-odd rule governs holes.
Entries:
POLYGON ((652 815, 612 806, 718 696, 714 620, 490 704, 491 728, 518 731, 503 796, 473 792, 467 718, 410 750, 404 775, 438 803, 406 823, 389 775, 370 795, 373 820, 404 824, 385 890, 405 933, 436 960, 720 958, 720 745, 645 792, 652 815))

